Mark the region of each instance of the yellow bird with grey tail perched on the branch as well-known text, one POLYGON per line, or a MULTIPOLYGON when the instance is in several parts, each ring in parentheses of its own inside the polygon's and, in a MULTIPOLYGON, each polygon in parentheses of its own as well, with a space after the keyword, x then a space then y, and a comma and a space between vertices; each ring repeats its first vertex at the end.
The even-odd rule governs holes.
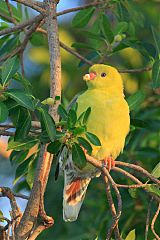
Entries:
MULTIPOLYGON (((92 156, 107 162, 110 170, 114 166, 114 160, 123 151, 130 125, 122 78, 114 67, 95 64, 83 79, 88 90, 78 97, 77 113, 80 115, 91 107, 87 131, 95 134, 101 141, 100 147, 92 146, 92 156)), ((63 157, 64 155, 63 152, 63 157)), ((84 169, 78 169, 72 162, 71 153, 66 155, 66 158, 63 169, 63 218, 65 221, 75 221, 91 178, 99 176, 100 173, 89 163, 84 169)))

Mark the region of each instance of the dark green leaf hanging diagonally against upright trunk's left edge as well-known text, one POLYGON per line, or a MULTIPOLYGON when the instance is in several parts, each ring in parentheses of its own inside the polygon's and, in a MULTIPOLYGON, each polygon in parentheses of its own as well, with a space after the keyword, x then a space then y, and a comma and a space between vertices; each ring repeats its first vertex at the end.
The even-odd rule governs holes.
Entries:
POLYGON ((38 109, 41 113, 41 125, 42 129, 45 128, 48 134, 48 137, 52 142, 54 142, 56 136, 55 122, 53 118, 45 111, 43 108, 38 109))

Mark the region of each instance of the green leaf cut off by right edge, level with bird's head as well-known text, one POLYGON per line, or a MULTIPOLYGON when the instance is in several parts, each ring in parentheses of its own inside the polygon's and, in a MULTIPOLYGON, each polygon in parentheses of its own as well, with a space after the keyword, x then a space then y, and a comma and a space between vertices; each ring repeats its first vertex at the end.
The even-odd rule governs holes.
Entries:
POLYGON ((155 61, 153 64, 152 81, 152 86, 154 89, 160 88, 160 60, 155 61))

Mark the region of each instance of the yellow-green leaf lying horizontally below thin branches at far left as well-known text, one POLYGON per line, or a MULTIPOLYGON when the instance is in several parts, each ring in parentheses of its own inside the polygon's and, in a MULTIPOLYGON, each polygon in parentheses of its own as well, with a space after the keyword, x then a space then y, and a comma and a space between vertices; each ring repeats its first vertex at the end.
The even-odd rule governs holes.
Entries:
POLYGON ((38 139, 35 139, 35 138, 27 138, 23 141, 11 140, 8 143, 7 150, 10 150, 10 149, 13 149, 13 150, 16 150, 16 151, 28 150, 36 144, 38 144, 38 139))

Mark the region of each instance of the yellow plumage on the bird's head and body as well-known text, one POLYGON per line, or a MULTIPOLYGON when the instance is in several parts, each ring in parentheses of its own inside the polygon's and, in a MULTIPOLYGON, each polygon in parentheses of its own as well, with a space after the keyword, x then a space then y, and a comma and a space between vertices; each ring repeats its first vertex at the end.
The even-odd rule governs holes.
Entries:
POLYGON ((96 76, 86 80, 88 90, 78 98, 78 114, 91 107, 87 131, 95 134, 102 144, 92 146, 92 156, 98 160, 109 156, 116 159, 123 151, 130 124, 122 78, 115 68, 103 64, 92 66, 89 72, 96 76), (103 73, 105 77, 101 76, 103 73))

